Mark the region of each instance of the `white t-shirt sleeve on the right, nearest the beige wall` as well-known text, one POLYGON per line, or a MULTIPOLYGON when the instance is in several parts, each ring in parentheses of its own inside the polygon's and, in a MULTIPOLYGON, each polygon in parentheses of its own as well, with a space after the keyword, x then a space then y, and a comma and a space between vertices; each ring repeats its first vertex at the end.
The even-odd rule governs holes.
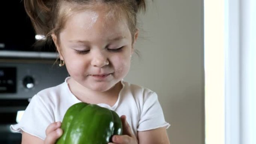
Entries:
POLYGON ((158 101, 155 92, 144 97, 144 104, 140 114, 137 131, 147 131, 151 129, 165 127, 168 128, 169 123, 165 122, 162 107, 158 101))

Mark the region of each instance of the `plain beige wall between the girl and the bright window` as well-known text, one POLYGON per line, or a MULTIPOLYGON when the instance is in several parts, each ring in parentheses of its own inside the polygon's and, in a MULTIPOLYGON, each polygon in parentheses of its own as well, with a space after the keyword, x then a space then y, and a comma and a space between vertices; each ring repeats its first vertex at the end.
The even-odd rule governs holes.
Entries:
POLYGON ((157 92, 171 144, 204 144, 203 0, 154 0, 140 19, 125 80, 157 92))

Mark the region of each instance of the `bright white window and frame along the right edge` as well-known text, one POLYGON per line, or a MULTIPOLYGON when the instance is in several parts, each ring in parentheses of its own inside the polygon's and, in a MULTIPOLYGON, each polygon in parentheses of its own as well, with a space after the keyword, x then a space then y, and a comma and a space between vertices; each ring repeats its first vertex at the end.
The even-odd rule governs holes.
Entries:
POLYGON ((204 6, 206 144, 256 144, 256 1, 204 6))

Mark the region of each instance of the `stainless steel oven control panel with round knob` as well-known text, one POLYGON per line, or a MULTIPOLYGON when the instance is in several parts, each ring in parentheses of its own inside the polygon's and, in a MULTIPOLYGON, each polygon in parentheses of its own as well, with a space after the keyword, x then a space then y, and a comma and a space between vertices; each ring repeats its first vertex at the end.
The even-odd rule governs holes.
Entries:
POLYGON ((67 70, 65 67, 54 66, 53 63, 54 61, 1 60, 0 69, 16 68, 16 93, 0 93, 0 99, 31 98, 42 89, 63 83, 68 76, 67 70))

